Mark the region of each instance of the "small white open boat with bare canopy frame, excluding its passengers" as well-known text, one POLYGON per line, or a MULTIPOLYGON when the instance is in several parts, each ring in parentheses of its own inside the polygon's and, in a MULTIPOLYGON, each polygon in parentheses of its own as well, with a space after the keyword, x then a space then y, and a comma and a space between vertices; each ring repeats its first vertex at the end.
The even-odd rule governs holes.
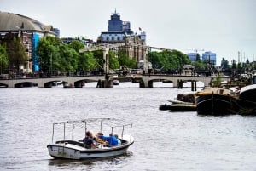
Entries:
POLYGON ((54 158, 86 159, 118 156, 124 154, 129 146, 134 143, 131 128, 131 123, 112 118, 90 118, 53 123, 52 142, 47 145, 47 148, 49 155, 54 158), (74 131, 75 129, 76 131, 74 131), (62 134, 58 134, 56 130, 61 130, 62 134), (100 131, 103 134, 118 134, 121 144, 108 146, 96 142, 95 149, 85 148, 81 139, 88 130, 100 131), (80 140, 75 140, 77 137, 80 140), (55 139, 57 140, 55 141, 55 139))

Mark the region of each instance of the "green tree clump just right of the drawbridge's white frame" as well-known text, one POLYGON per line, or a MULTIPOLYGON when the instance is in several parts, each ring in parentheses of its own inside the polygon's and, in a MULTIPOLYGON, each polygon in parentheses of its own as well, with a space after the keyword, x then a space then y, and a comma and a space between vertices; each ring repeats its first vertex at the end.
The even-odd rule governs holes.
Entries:
POLYGON ((176 70, 185 64, 190 64, 189 57, 177 50, 150 52, 148 54, 148 60, 152 63, 154 69, 165 71, 176 70))

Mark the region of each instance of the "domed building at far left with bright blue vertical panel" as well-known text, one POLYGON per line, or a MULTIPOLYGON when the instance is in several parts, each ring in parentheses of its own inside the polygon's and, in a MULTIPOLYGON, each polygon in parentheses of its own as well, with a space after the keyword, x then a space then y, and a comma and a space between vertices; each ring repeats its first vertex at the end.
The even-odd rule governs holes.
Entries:
MULTIPOLYGON (((32 73, 40 70, 36 48, 39 39, 47 36, 59 37, 60 30, 20 14, 0 12, 0 43, 7 43, 7 46, 9 46, 14 37, 20 37, 21 43, 26 48, 28 60, 20 66, 18 72, 32 73)), ((11 48, 7 48, 8 53, 9 51, 11 51, 11 48)), ((15 71, 14 66, 8 68, 9 71, 15 71)))

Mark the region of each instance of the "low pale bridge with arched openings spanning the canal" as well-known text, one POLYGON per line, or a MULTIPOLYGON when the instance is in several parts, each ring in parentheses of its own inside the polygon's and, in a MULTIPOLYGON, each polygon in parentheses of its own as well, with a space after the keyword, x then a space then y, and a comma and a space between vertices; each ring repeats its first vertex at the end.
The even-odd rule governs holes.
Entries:
MULTIPOLYGON (((183 75, 137 75, 132 77, 132 82, 140 83, 140 88, 153 88, 153 82, 163 81, 173 83, 173 87, 177 88, 179 83, 184 82, 202 82, 205 86, 215 77, 199 77, 199 76, 183 76, 183 75)), ((0 79, 0 87, 6 88, 23 88, 32 87, 51 88, 52 83, 62 82, 67 83, 75 88, 82 88, 86 83, 98 82, 98 88, 111 87, 112 80, 119 79, 117 77, 105 75, 90 75, 77 77, 37 77, 37 78, 19 78, 19 79, 0 79), (27 86, 26 86, 27 85, 27 86)), ((230 81, 230 77, 221 77, 221 81, 230 81)))

